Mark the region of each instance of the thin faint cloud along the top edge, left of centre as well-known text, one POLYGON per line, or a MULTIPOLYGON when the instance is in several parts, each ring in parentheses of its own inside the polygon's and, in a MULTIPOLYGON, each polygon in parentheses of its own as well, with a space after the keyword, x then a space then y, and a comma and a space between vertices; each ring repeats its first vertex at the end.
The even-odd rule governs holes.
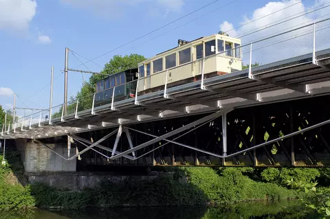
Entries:
MULTIPOLYGON (((74 8, 91 10, 99 16, 120 16, 127 7, 146 4, 146 12, 150 8, 159 8, 166 12, 179 12, 184 5, 184 0, 60 0, 62 3, 74 8)), ((147 13, 148 14, 148 13, 147 13)))

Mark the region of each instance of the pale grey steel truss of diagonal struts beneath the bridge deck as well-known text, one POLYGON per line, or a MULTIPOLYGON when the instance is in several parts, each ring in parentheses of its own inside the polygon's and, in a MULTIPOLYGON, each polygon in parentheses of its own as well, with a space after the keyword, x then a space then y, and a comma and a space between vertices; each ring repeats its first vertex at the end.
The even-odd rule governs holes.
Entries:
MULTIPOLYGON (((116 130, 114 130, 113 132, 109 133, 108 135, 102 137, 102 139, 96 141, 95 143, 93 143, 92 141, 88 141, 87 139, 83 139, 82 137, 78 137, 76 135, 68 135, 69 137, 72 137, 72 139, 74 139, 75 141, 78 141, 79 143, 83 144, 83 146, 86 146, 86 148, 84 150, 82 150, 81 152, 77 152, 74 156, 72 157, 63 157, 61 154, 58 154, 58 152, 54 151, 52 148, 50 148, 49 146, 47 146, 45 143, 42 143, 41 141, 39 140, 36 140, 34 139, 34 141, 36 141, 37 143, 41 143, 41 145, 49 148, 52 152, 54 152, 55 154, 57 154, 59 157, 67 160, 67 161, 70 161, 72 159, 75 159, 76 157, 78 157, 80 154, 83 154, 84 152, 87 152, 88 150, 94 150, 96 152, 98 152, 99 154, 101 154, 103 157, 106 157, 107 159, 111 159, 111 160, 114 160, 114 159, 119 159, 121 157, 124 157, 126 159, 129 159, 129 160, 132 160, 132 161, 135 161, 137 159, 140 159, 144 156, 146 156, 146 154, 149 154, 159 148, 162 148, 164 146, 166 146, 166 144, 168 143, 173 143, 177 146, 181 146, 181 147, 184 147, 184 148, 189 148, 191 150, 195 150, 197 152, 202 152, 204 154, 208 154, 208 155, 211 155, 211 156, 214 156, 214 157, 218 157, 218 158, 221 158, 221 159, 225 159, 225 158, 229 158, 229 157, 234 157, 236 155, 239 155, 239 154, 243 154, 245 152, 250 152, 251 150, 255 150, 256 148, 261 148, 263 146, 267 146, 269 144, 272 144, 272 143, 275 143, 276 141, 280 141, 282 139, 287 139, 289 137, 293 137, 295 135, 298 135, 300 133, 303 133, 303 132, 306 132, 308 130, 312 130, 314 128, 318 128, 320 126, 324 126, 326 124, 330 124, 330 119, 329 120, 326 120, 325 122, 320 122, 318 124, 315 124, 313 126, 309 126, 307 128, 303 128, 301 130, 298 130, 296 132, 292 132, 288 135, 284 135, 282 137, 278 137, 276 139, 272 139, 270 141, 267 141, 265 143, 261 143, 259 145, 256 145, 256 146, 252 146, 250 148, 246 148, 244 150, 241 150, 239 152, 234 152, 232 154, 227 154, 227 141, 226 141, 226 135, 227 135, 227 126, 226 126, 226 115, 227 115, 228 111, 226 112, 221 112, 221 111, 218 111, 217 113, 213 113, 211 115, 208 115, 206 117, 203 117, 201 119, 198 119, 196 120, 195 122, 192 122, 186 126, 183 126, 183 127, 180 127, 180 128, 177 128, 177 130, 173 130, 171 132, 168 132, 162 136, 157 136, 157 135, 152 135, 152 134, 149 134, 147 132, 142 132, 140 130, 135 130, 133 128, 129 128, 129 127, 121 127, 121 128, 118 128, 116 130), (223 124, 223 154, 215 154, 215 153, 212 153, 212 152, 208 152, 206 150, 201 150, 200 148, 196 148, 194 146, 188 146, 184 143, 179 143, 177 141, 175 141, 176 139, 179 139, 180 137, 183 137, 184 135, 187 135, 189 132, 192 132, 193 130, 196 130, 197 128, 205 125, 205 124, 208 124, 209 122, 212 122, 212 120, 216 119, 217 117, 220 117, 222 116, 222 124, 223 124), (190 130, 188 130, 190 129, 190 130), (144 134, 144 135, 148 135, 150 137, 154 137, 154 139, 150 140, 150 141, 147 141, 145 143, 142 143, 140 144, 139 146, 135 146, 133 147, 133 143, 132 141, 129 140, 129 144, 130 144, 130 149, 129 150, 125 150, 124 152, 118 152, 117 150, 115 150, 117 148, 117 145, 118 145, 118 142, 119 142, 119 139, 120 139, 120 136, 122 134, 122 132, 125 132, 126 133, 126 136, 130 136, 130 133, 129 133, 129 130, 132 130, 132 131, 135 131, 135 132, 139 132, 141 134, 144 134), (178 133, 180 132, 184 132, 185 130, 188 130, 188 132, 185 132, 184 134, 182 135, 179 135, 179 137, 175 137, 175 139, 173 140, 169 140, 167 139, 168 137, 172 137, 173 135, 177 135, 178 133), (111 148, 107 148, 107 147, 104 147, 102 145, 100 145, 100 143, 106 139, 108 139, 109 137, 115 135, 115 133, 117 132, 117 136, 116 136, 116 139, 115 139, 115 143, 113 144, 113 149, 111 148), (135 157, 135 152, 137 150, 141 150, 142 148, 146 148, 147 146, 150 146, 151 144, 153 143, 157 143, 159 141, 167 141, 166 143, 164 143, 162 146, 158 146, 156 148, 153 148, 153 150, 150 150, 142 155, 140 155, 139 157, 135 157), (90 144, 89 146, 87 144, 90 144), (106 151, 109 151, 111 152, 111 157, 108 157, 107 155, 105 154, 102 154, 102 152, 99 152, 98 150, 95 150, 94 147, 98 147, 98 148, 101 148, 102 150, 106 150, 106 151), (134 154, 133 154, 134 153, 134 154), (133 157, 132 156, 129 156, 128 154, 133 154, 133 157)), ((130 137, 128 137, 129 139, 131 139, 130 137)))

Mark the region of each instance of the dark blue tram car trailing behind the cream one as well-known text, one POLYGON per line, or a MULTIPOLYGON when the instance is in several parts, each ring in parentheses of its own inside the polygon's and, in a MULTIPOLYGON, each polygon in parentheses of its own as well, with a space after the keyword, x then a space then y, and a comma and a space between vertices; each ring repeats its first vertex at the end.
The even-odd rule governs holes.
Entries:
POLYGON ((114 102, 135 97, 137 72, 137 68, 127 69, 96 82, 94 106, 111 104, 112 97, 114 102))

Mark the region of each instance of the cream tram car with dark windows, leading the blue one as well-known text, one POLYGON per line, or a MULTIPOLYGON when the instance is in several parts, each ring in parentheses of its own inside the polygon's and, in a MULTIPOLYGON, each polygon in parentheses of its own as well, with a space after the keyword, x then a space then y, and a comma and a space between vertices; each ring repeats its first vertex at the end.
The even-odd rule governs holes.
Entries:
POLYGON ((202 71, 204 78, 239 71, 241 56, 241 40, 222 32, 191 42, 179 40, 177 47, 139 63, 138 91, 164 89, 166 75, 167 87, 175 87, 200 80, 202 71))

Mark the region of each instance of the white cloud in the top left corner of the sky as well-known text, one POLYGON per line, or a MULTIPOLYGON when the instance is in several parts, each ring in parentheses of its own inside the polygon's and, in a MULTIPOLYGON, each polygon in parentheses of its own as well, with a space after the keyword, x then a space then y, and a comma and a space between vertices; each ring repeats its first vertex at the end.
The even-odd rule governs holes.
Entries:
POLYGON ((0 0, 0 30, 28 30, 36 5, 34 0, 0 0))

